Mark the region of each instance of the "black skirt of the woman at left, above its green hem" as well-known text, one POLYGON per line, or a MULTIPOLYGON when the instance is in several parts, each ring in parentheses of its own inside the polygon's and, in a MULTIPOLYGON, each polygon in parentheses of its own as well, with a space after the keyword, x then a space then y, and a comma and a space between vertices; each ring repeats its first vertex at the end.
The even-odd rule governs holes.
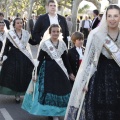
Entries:
MULTIPOLYGON (((11 43, 8 58, 4 61, 0 73, 0 86, 16 92, 25 92, 32 78, 33 64, 11 43)), ((9 46, 8 45, 8 46, 9 46)), ((0 91, 1 94, 2 91, 0 91)), ((9 94, 6 93, 6 94, 9 94)))

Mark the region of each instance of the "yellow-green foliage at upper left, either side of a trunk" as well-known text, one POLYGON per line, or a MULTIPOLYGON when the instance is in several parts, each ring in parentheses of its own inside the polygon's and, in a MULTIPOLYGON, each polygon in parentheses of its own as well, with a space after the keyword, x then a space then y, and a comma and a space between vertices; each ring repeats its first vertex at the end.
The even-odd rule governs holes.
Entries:
MULTIPOLYGON (((45 0, 35 0, 32 12, 35 14, 45 13, 45 0)), ((29 9, 29 0, 0 0, 0 11, 6 12, 6 5, 8 5, 9 16, 16 16, 17 13, 23 15, 29 9)))

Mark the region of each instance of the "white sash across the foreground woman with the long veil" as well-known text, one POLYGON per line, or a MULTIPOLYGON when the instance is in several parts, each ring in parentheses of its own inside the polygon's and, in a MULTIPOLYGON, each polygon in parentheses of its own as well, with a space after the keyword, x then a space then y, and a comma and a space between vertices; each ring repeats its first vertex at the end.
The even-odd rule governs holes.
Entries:
POLYGON ((120 67, 120 48, 108 36, 106 37, 104 47, 107 49, 111 57, 115 60, 115 62, 120 67))

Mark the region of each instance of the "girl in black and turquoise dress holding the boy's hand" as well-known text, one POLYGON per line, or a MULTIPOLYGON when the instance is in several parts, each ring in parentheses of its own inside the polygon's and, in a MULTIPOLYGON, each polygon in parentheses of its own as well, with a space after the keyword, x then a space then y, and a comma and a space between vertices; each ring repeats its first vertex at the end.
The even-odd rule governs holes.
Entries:
POLYGON ((53 120, 59 120, 58 116, 65 115, 71 92, 69 77, 74 79, 74 75, 69 65, 67 47, 60 37, 60 26, 51 25, 49 33, 44 36, 38 52, 40 63, 34 94, 28 90, 22 108, 34 115, 52 116, 53 120))

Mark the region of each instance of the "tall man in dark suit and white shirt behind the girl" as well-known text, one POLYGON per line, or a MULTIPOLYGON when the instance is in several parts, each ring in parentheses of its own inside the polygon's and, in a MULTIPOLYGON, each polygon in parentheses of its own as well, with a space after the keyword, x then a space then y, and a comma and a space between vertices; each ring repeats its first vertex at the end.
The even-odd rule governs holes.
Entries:
POLYGON ((56 0, 49 0, 47 3, 47 14, 41 15, 34 27, 33 38, 37 44, 40 43, 44 32, 52 24, 59 24, 62 28, 63 40, 68 45, 67 37, 69 36, 69 31, 66 23, 66 19, 57 14, 57 2, 56 0))

